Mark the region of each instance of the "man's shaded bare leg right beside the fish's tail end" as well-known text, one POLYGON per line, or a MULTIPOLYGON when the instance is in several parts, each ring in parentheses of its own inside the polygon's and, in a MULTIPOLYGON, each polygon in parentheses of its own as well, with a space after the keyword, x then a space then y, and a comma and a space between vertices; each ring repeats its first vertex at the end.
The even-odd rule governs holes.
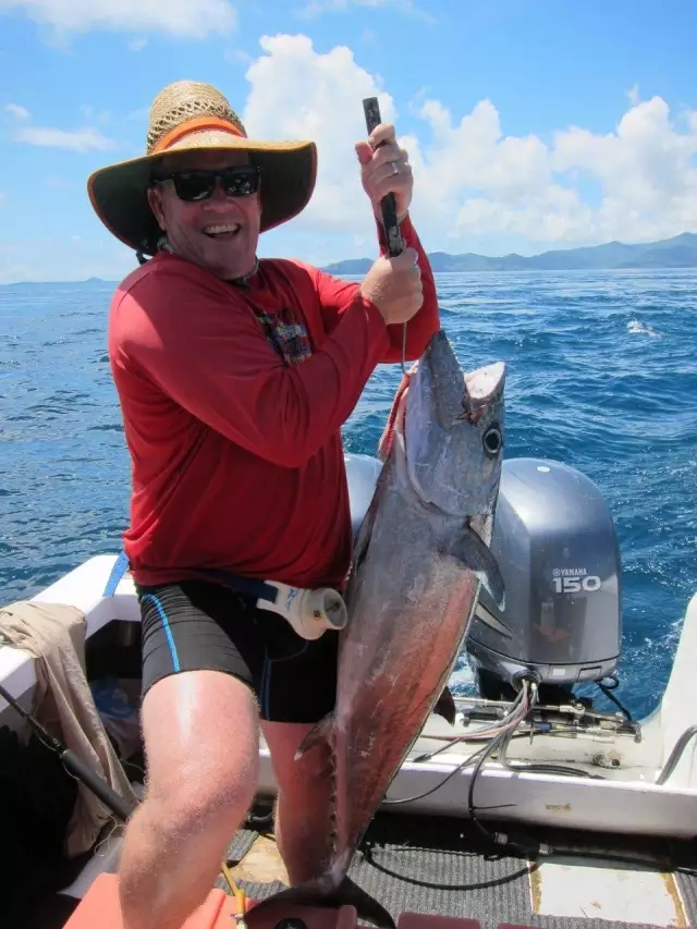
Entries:
POLYGON ((276 840, 292 884, 318 877, 331 854, 329 753, 295 750, 313 728, 306 723, 261 723, 279 785, 276 840))

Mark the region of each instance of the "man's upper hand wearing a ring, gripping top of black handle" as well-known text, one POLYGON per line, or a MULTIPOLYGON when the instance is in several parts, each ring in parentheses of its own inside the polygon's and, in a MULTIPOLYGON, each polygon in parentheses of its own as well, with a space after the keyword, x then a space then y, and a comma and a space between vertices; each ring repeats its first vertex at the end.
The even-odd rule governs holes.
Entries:
POLYGON ((376 217, 379 220, 382 219, 380 212, 382 197, 394 194, 396 215, 401 222, 412 203, 414 176, 408 155, 396 144, 394 126, 380 123, 367 142, 356 143, 356 155, 360 162, 363 190, 370 197, 376 217))

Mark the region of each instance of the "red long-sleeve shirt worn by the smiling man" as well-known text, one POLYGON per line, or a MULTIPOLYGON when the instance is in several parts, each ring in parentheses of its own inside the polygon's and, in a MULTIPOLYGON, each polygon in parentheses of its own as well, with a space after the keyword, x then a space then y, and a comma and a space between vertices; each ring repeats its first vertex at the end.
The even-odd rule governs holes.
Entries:
MULTIPOLYGON (((424 285, 413 359, 439 315, 408 218, 402 233, 424 285)), ((352 535, 340 429, 375 366, 401 354, 402 326, 386 326, 357 283, 298 261, 262 259, 246 288, 167 252, 131 273, 111 303, 109 357, 132 456, 135 580, 213 569, 341 587, 352 535)))

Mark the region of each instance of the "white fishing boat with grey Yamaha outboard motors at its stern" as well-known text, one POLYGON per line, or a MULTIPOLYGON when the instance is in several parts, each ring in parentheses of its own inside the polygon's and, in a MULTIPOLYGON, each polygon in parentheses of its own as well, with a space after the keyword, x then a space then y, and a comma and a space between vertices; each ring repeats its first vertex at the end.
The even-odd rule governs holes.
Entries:
MULTIPOLYGON (((345 461, 357 531, 381 463, 351 453, 345 461)), ((615 673, 619 546, 592 481, 561 462, 505 460, 491 549, 506 600, 500 607, 481 591, 465 643, 473 693, 453 697, 454 716, 427 720, 356 855, 354 880, 404 927, 443 916, 481 929, 697 925, 697 592, 664 693, 637 720, 615 673)), ((139 612, 124 557, 94 555, 29 602, 84 614, 87 680, 138 793, 139 612)), ((0 684, 30 708, 36 660, 0 646, 0 684)), ((3 726, 20 731, 23 721, 0 698, 3 726)), ((259 757, 257 812, 231 854, 253 899, 282 883, 278 860, 271 883, 249 871, 249 848, 270 834, 265 810, 276 792, 262 737, 259 757)), ((75 920, 95 889, 113 895, 105 881, 121 842, 112 822, 40 915, 17 926, 86 925, 75 920)))

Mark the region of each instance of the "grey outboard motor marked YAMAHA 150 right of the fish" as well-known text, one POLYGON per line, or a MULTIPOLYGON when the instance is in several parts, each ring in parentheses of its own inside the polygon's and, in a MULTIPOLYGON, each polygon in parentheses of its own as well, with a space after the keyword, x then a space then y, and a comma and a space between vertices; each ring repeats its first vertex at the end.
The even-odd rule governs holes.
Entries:
POLYGON ((620 551, 596 485, 542 459, 503 462, 491 551, 505 583, 499 610, 481 590, 466 650, 481 696, 506 699, 523 677, 560 702, 601 681, 621 645, 620 551))

